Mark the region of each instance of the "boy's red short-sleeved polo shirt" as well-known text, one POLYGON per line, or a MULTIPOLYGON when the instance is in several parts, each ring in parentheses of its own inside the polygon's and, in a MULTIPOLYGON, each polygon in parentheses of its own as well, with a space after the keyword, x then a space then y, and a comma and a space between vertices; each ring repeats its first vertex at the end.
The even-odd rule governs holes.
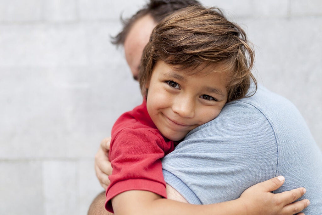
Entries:
POLYGON ((160 159, 173 151, 174 145, 156 128, 145 99, 122 114, 112 128, 109 159, 113 172, 106 190, 106 210, 113 212, 111 199, 130 190, 151 191, 166 198, 160 159))

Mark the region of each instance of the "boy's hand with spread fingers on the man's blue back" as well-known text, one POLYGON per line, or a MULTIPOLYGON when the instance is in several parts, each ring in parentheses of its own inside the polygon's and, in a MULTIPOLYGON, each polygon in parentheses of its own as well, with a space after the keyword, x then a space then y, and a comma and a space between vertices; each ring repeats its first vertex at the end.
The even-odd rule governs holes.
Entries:
MULTIPOLYGON (((245 190, 240 200, 246 208, 246 214, 279 214, 292 215, 306 208, 310 202, 307 199, 294 202, 304 195, 305 188, 273 194, 284 183, 283 176, 255 184, 245 190), (294 202, 294 203, 292 203, 294 202)), ((300 213, 303 215, 303 213, 300 213)))

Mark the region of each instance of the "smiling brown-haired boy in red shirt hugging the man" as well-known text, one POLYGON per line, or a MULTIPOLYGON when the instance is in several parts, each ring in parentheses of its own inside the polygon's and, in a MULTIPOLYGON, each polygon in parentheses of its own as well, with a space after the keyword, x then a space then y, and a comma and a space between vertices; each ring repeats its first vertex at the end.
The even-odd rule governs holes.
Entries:
POLYGON ((156 26, 139 74, 144 101, 124 113, 112 129, 107 210, 116 214, 294 214, 307 206, 307 200, 290 204, 294 196, 303 195, 303 188, 270 193, 281 186, 282 177, 275 185, 266 181, 237 200, 218 204, 191 205, 162 198, 166 198, 166 183, 160 159, 188 132, 216 118, 227 102, 246 96, 251 83, 256 89, 253 61, 243 30, 218 9, 185 8, 156 26))

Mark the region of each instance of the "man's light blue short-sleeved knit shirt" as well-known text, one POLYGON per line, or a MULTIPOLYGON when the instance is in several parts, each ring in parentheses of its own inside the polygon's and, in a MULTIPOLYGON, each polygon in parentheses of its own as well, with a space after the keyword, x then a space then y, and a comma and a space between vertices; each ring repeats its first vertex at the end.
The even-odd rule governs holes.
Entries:
POLYGON ((237 199, 248 187, 283 175, 275 192, 305 187, 308 215, 322 214, 322 156, 297 108, 259 86, 227 103, 162 160, 166 182, 192 204, 237 199))

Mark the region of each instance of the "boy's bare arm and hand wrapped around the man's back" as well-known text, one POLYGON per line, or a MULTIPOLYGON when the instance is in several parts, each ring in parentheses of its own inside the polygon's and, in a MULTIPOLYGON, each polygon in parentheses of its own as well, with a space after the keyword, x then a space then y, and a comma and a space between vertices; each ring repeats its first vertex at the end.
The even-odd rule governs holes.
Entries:
POLYGON ((144 214, 295 214, 308 206, 308 200, 297 200, 305 193, 304 188, 298 188, 279 194, 270 191, 278 189, 284 183, 284 178, 273 178, 256 184, 243 192, 236 200, 209 204, 192 205, 174 200, 162 199, 149 191, 126 191, 112 199, 113 209, 118 215, 144 214))

